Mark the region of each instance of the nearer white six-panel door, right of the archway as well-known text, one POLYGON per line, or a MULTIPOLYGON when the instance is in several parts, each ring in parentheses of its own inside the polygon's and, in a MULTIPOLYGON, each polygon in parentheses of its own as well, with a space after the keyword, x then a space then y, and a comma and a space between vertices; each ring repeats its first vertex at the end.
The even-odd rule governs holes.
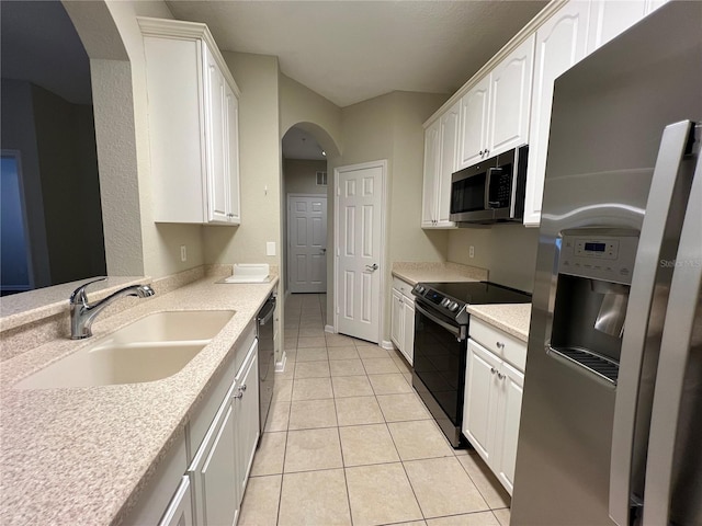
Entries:
POLYGON ((377 343, 384 258, 385 161, 335 170, 337 332, 377 343))

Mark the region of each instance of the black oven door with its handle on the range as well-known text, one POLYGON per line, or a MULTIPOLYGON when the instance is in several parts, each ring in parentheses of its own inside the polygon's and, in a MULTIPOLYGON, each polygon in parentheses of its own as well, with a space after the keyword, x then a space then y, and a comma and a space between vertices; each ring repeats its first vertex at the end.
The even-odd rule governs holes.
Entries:
POLYGON ((466 327, 415 304, 412 386, 453 447, 461 442, 466 327))

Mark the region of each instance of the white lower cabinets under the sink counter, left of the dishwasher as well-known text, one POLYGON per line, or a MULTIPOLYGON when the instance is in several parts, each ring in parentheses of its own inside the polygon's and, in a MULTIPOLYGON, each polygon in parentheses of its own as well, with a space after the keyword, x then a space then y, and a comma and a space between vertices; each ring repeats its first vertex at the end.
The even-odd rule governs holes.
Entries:
POLYGON ((260 435, 258 340, 253 322, 239 341, 240 346, 231 351, 219 379, 205 395, 179 443, 161 461, 123 524, 237 524, 260 435))

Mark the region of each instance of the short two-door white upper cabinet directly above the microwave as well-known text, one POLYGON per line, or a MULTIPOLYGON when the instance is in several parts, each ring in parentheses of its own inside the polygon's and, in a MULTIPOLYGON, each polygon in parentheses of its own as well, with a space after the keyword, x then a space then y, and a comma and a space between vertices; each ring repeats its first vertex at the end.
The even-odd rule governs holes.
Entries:
POLYGON ((528 142, 533 64, 531 35, 463 95, 457 169, 528 142))

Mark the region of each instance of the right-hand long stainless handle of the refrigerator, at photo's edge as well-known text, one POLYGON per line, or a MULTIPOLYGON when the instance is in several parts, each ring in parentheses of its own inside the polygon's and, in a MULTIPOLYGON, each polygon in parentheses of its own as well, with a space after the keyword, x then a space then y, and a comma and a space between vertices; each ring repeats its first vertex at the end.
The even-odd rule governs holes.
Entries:
POLYGON ((668 299, 670 315, 666 316, 663 330, 648 442, 648 450, 655 455, 648 455, 646 461, 644 524, 669 524, 676 432, 684 376, 695 317, 702 316, 698 307, 702 293, 701 225, 702 157, 698 159, 692 181, 668 299))

